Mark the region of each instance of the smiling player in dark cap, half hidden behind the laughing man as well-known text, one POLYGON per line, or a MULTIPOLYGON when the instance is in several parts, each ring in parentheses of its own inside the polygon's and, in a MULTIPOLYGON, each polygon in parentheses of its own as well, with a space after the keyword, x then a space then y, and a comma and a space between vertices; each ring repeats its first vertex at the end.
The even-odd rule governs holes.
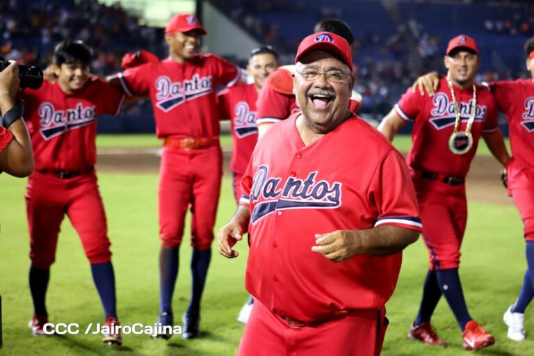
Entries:
MULTIPOLYGON (((232 186, 236 203, 241 197, 241 178, 258 140, 256 125, 256 101, 259 90, 268 75, 278 67, 278 54, 270 46, 253 49, 250 53, 247 72, 254 83, 232 86, 218 95, 220 119, 230 120, 232 127, 232 186)), ((247 323, 254 298, 250 296, 239 312, 237 321, 247 323)))

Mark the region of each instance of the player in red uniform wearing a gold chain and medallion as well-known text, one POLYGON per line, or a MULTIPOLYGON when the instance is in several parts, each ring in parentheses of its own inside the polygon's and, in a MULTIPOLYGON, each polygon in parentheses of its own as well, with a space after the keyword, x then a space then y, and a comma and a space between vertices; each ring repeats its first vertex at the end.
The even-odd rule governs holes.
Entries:
POLYGON ((439 81, 434 97, 421 98, 407 90, 378 129, 393 140, 407 122, 414 123, 407 163, 419 201, 430 270, 408 337, 444 345, 430 325, 443 294, 462 330, 464 348, 478 350, 495 340, 469 315, 458 275, 467 223, 464 181, 480 137, 501 164, 507 164, 510 157, 497 127, 491 92, 474 84, 480 65, 475 40, 466 35, 453 38, 448 42, 444 64, 448 74, 439 81))

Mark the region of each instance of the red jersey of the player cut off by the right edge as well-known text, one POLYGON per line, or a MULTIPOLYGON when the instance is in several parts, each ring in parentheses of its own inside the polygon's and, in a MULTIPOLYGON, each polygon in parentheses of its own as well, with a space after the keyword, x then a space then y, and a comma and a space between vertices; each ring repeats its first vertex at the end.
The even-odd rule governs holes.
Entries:
POLYGON ((491 84, 499 110, 508 119, 512 160, 508 188, 534 186, 534 82, 532 79, 491 84))

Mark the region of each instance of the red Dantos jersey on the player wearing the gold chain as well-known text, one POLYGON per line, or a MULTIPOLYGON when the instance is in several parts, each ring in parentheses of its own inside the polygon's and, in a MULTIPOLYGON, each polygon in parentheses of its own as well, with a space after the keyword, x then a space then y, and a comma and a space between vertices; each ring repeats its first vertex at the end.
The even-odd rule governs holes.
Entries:
MULTIPOLYGON (((460 106, 460 128, 465 131, 473 89, 462 90, 453 86, 460 106)), ((478 140, 483 132, 497 129, 497 111, 492 93, 485 86, 476 86, 476 115, 471 128, 474 143, 466 154, 454 154, 448 148, 448 138, 453 133, 455 123, 454 104, 446 78, 439 81, 433 97, 421 97, 419 92, 409 88, 395 105, 395 111, 406 121, 413 121, 412 149, 407 162, 414 170, 428 170, 443 175, 465 176, 476 153, 478 140)))

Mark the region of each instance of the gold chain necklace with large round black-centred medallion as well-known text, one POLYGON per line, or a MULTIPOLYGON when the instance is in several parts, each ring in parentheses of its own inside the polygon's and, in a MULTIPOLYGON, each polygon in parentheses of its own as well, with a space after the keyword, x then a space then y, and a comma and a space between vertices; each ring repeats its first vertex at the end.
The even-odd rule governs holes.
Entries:
POLYGON ((448 89, 451 90, 451 97, 453 97, 454 104, 454 131, 451 137, 448 138, 448 148, 451 149, 453 154, 466 154, 469 149, 473 147, 473 135, 471 134, 471 127, 475 122, 476 115, 476 86, 473 84, 473 102, 471 102, 471 113, 469 114, 469 120, 467 120, 467 127, 465 131, 458 131, 460 127, 460 105, 456 101, 454 95, 453 82, 447 77, 448 89))

